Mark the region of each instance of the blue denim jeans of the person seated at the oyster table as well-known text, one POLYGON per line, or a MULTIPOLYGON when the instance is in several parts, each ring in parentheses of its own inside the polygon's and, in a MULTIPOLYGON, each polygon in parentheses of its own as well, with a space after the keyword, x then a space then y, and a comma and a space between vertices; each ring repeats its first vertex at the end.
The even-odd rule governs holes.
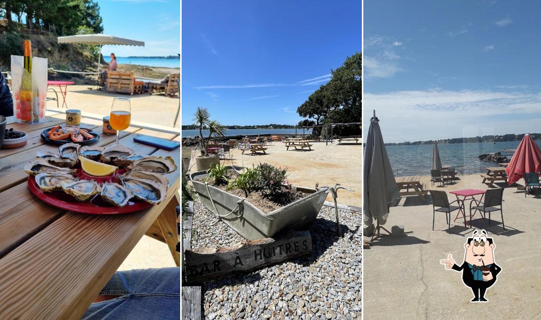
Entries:
POLYGON ((100 295, 121 295, 90 305, 81 319, 180 318, 180 268, 118 271, 100 295))

